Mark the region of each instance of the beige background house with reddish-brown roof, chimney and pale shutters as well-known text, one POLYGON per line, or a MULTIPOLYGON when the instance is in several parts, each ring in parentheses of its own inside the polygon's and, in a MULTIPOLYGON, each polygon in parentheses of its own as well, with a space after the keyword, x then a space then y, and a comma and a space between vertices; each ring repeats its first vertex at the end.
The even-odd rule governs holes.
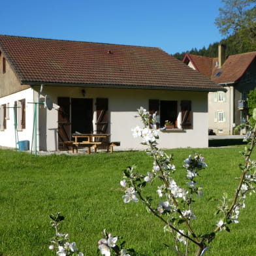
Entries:
POLYGON ((208 95, 209 129, 216 135, 232 135, 236 125, 248 120, 248 93, 256 86, 256 52, 225 56, 225 46, 219 45, 216 58, 186 54, 183 62, 226 89, 208 95))

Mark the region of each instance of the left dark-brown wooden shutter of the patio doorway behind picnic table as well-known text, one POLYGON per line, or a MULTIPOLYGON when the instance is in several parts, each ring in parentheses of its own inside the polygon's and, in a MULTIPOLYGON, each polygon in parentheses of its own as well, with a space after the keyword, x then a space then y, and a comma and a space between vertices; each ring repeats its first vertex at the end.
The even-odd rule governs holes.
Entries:
POLYGON ((70 99, 69 97, 58 97, 58 150, 65 150, 64 141, 71 140, 71 121, 70 121, 70 99))

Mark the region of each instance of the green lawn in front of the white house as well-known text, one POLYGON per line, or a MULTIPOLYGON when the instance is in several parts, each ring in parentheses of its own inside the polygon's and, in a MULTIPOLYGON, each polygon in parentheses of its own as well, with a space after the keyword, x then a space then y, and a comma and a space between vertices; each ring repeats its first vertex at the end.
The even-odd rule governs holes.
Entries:
MULTIPOLYGON (((198 233, 212 231, 216 225, 218 216, 214 212, 223 191, 230 196, 234 193, 242 148, 197 150, 208 163, 198 180, 204 186, 204 197, 197 201, 197 219, 192 224, 198 233)), ((182 161, 193 150, 167 152, 174 153, 176 182, 184 184, 182 161)), ((97 255, 97 241, 104 228, 123 236, 126 248, 134 248, 138 256, 174 255, 163 246, 171 242, 159 220, 146 214, 142 204, 124 204, 121 199, 121 170, 136 163, 139 172, 150 171, 152 159, 146 153, 35 157, 0 150, 0 161, 0 255, 56 255, 48 249, 54 234, 48 216, 55 212, 65 216, 61 232, 69 232, 85 255, 97 255)), ((152 193, 155 190, 152 187, 152 193)), ((219 232, 206 255, 253 255, 255 228, 255 195, 252 195, 240 213, 240 223, 232 225, 230 233, 219 232)))

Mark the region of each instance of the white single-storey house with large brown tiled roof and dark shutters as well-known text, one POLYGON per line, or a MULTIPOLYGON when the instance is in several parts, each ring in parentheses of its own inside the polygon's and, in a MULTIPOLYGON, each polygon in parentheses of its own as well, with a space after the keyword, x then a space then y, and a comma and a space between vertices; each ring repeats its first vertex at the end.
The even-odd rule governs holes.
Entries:
POLYGON ((159 48, 0 35, 0 51, 0 146, 65 150, 79 132, 142 149, 140 106, 157 111, 159 147, 208 146, 208 92, 223 88, 159 48))

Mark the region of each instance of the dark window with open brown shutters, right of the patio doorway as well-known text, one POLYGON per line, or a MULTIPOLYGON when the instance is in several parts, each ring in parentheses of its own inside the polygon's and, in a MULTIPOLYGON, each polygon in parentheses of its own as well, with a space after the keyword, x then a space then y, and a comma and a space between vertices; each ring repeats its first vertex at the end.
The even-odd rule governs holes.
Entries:
MULTIPOLYGON (((160 101, 158 99, 150 99, 150 114, 157 113, 159 123, 157 128, 165 126, 165 120, 169 120, 174 125, 178 119, 178 101, 160 101)), ((184 129, 192 129, 192 112, 191 101, 180 101, 181 125, 184 129)))

